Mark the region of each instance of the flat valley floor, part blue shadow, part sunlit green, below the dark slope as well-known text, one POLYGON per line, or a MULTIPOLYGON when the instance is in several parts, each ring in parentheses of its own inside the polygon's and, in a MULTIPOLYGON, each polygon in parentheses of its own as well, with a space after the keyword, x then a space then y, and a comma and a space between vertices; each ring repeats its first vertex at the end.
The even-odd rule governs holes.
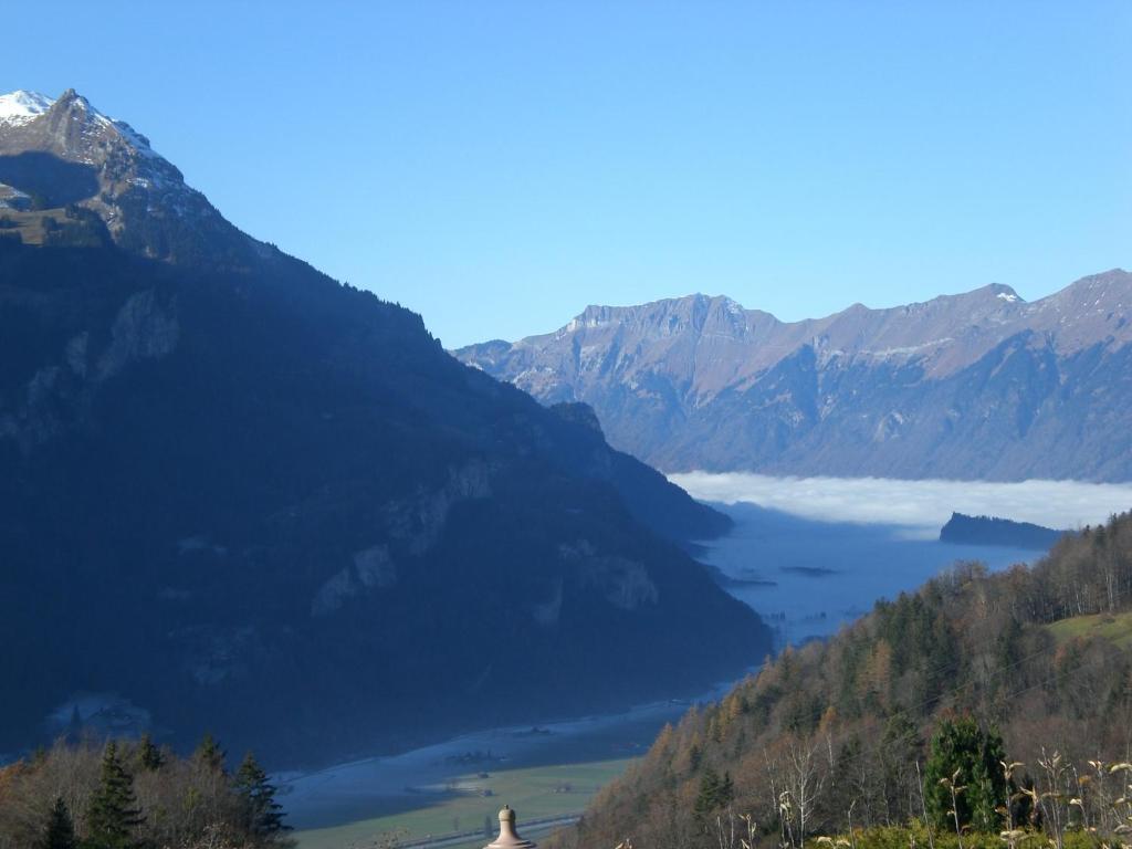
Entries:
POLYGON ((518 811, 521 822, 581 813, 599 786, 648 751, 664 723, 677 721, 692 704, 719 698, 730 686, 720 683, 693 698, 624 713, 477 731, 400 755, 280 773, 274 780, 301 847, 344 847, 397 827, 410 829, 409 839, 461 831, 453 827, 453 817, 482 831, 484 813, 494 817, 504 804, 518 811), (586 779, 591 773, 600 780, 586 779), (533 782, 525 789, 524 779, 533 782), (540 789, 547 781, 574 789, 547 800, 540 789), (491 796, 480 795, 486 790, 491 796), (524 811, 518 799, 532 792, 538 801, 524 811), (473 808, 475 822, 468 818, 473 808), (338 842, 325 842, 325 834, 338 842))

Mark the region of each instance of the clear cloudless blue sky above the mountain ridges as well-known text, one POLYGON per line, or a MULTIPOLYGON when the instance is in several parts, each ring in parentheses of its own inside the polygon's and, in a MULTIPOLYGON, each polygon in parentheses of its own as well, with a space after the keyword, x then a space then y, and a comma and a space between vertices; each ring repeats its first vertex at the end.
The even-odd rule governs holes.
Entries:
POLYGON ((1132 2, 52 2, 75 87, 446 345, 588 303, 796 319, 1132 266, 1132 2))

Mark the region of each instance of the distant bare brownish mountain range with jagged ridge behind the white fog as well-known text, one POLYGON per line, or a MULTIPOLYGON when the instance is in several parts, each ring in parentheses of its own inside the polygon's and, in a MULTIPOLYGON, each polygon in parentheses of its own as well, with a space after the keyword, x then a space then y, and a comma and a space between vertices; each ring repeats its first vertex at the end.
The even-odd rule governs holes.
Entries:
POLYGON ((1132 479, 1130 308, 1120 269, 1032 303, 995 284, 794 323, 697 294, 455 355, 590 404, 664 471, 1115 481, 1132 479))

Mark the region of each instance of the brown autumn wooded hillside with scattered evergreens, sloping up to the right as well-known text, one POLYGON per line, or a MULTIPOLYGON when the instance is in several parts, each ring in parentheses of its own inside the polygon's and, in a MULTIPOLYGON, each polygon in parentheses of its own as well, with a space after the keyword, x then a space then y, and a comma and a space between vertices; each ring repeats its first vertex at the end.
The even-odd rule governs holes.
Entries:
POLYGON ((1132 514, 957 564, 693 707, 556 849, 1114 846, 1132 832, 1132 514))

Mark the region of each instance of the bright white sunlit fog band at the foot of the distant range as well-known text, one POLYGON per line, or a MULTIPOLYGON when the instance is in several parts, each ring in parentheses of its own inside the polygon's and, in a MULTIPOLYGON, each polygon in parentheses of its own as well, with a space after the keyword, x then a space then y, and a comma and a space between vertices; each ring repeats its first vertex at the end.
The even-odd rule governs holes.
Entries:
POLYGON ((917 535, 937 533, 953 512, 1075 529, 1132 509, 1132 483, 772 478, 744 472, 687 472, 669 479, 704 501, 744 501, 824 522, 900 525, 917 535))

